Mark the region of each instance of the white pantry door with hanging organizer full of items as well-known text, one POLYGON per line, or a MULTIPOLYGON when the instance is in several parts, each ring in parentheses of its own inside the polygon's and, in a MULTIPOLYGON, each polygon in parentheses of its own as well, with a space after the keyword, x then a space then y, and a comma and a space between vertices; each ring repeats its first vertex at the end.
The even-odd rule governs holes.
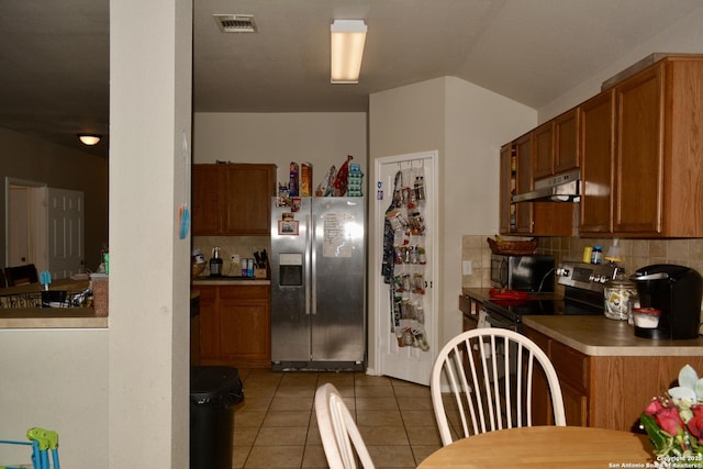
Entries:
MULTIPOLYGON (((375 268, 383 263, 384 220, 393 203, 392 272, 378 276, 375 311, 381 375, 429 384, 437 353, 437 152, 376 160, 375 268), (397 190, 400 193, 394 197, 397 190), (421 188, 416 190, 416 188, 421 188), (388 280, 384 281, 384 278, 388 280)), ((390 237, 388 238, 390 239, 390 237)), ((389 246, 387 246, 388 248, 389 246)))

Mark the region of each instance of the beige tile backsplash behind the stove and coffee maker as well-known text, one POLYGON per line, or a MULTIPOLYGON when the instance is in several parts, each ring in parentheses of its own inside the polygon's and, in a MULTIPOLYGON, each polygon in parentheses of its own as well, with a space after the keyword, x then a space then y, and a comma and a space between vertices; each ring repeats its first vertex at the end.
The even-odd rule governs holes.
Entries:
MULTIPOLYGON (((471 261, 472 275, 461 276, 464 288, 488 288, 490 282, 491 249, 486 242, 494 235, 465 235, 461 237, 461 260, 471 261)), ((603 253, 614 244, 609 238, 540 237, 538 254, 551 254, 556 263, 581 259, 583 247, 601 245, 603 253)), ((703 273, 703 238, 694 239, 618 239, 621 261, 627 273, 652 264, 678 264, 703 273)))

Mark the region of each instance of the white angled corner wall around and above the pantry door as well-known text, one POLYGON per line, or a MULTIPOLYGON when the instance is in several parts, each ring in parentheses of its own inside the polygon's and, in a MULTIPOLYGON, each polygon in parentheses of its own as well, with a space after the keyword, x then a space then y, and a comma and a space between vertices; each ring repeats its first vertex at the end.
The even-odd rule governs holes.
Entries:
MULTIPOLYGON (((371 94, 369 155, 376 158, 439 150, 440 250, 438 288, 440 340, 461 331, 461 235, 498 230, 499 149, 536 125, 536 111, 458 78, 445 77, 371 94)), ((371 165, 372 166, 372 165, 371 165)), ((370 185, 376 175, 370 176, 370 185)), ((373 220, 369 232, 373 233, 373 220)), ((381 239, 370 239, 370 253, 381 239)), ((369 266, 369 298, 380 284, 369 266)), ((380 265, 380 264, 379 264, 380 265)), ((375 312, 369 320, 375 325, 375 312)), ((381 322, 383 324, 383 322, 381 322)), ((369 330, 369 364, 378 332, 369 330)), ((440 344, 433 345, 437 350, 440 344)))

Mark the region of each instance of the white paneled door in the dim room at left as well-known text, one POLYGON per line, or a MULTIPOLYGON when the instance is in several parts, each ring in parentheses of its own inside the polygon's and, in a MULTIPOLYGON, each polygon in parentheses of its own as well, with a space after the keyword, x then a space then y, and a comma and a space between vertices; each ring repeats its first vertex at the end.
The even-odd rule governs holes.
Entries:
POLYGON ((48 270, 62 279, 83 271, 83 193, 48 189, 48 270))

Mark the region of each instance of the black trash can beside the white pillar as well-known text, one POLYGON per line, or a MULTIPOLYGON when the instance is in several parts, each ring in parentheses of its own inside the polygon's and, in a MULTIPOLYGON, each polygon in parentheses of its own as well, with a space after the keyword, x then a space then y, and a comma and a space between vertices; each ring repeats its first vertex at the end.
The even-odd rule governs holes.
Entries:
POLYGON ((190 469, 231 469, 234 405, 244 399, 232 367, 190 370, 190 469))

